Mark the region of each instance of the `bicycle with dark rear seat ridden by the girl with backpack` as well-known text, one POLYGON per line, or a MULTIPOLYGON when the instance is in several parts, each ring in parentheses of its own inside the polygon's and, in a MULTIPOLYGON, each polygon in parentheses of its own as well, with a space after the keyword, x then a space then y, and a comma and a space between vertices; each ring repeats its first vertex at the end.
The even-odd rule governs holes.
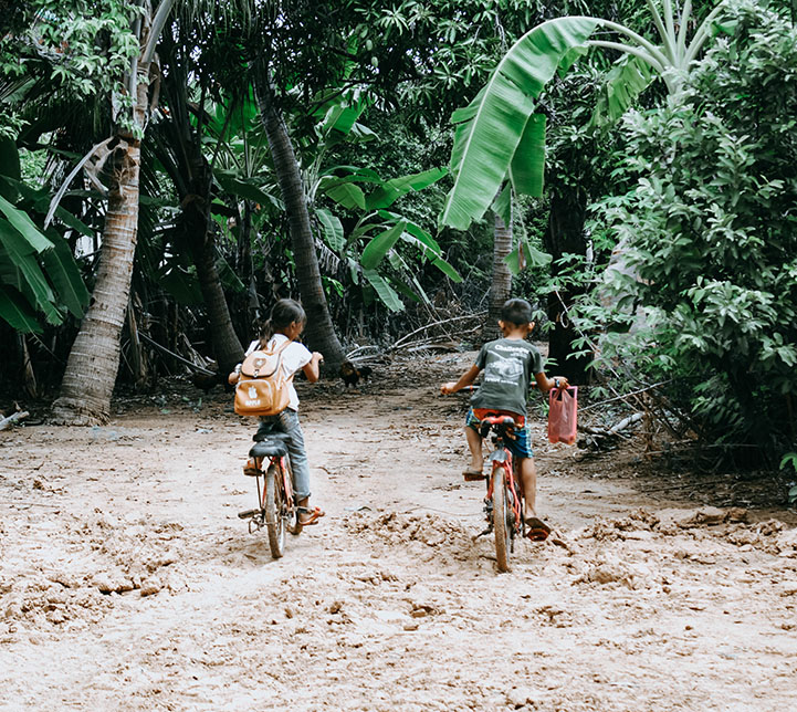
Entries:
POLYGON ((298 507, 293 501, 291 460, 286 446, 290 436, 270 432, 255 436, 255 439, 256 442, 249 451, 253 467, 245 467, 243 473, 255 479, 258 507, 239 512, 238 516, 249 520, 250 534, 265 526, 271 555, 281 558, 285 553, 285 532, 298 535, 302 531, 298 507))

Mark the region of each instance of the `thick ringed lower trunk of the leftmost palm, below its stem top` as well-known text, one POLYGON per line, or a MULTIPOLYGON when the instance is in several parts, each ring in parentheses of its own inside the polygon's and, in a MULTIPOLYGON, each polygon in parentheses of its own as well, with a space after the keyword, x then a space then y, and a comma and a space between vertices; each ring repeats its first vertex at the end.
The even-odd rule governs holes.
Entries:
POLYGON ((136 251, 140 143, 130 138, 120 154, 114 167, 92 301, 53 404, 53 419, 63 425, 101 425, 111 416, 136 251))

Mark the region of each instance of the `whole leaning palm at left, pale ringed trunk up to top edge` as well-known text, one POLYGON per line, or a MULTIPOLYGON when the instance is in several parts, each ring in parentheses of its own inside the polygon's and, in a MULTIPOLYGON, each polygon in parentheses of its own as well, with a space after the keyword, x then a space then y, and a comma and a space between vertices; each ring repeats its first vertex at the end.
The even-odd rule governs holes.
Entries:
POLYGON ((106 422, 119 367, 119 336, 125 321, 138 230, 140 136, 150 108, 155 45, 175 0, 162 0, 157 12, 149 0, 133 27, 141 48, 130 62, 128 82, 119 93, 133 100, 130 124, 118 125, 105 146, 113 150, 111 188, 103 230, 99 270, 92 300, 70 352, 53 418, 66 425, 106 422))

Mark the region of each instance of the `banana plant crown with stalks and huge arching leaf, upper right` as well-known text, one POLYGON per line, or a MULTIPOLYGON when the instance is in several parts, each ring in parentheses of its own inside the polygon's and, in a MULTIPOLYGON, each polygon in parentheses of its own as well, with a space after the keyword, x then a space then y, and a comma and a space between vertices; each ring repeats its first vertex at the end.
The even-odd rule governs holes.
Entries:
POLYGON ((670 93, 678 90, 683 74, 711 38, 724 2, 709 13, 691 41, 691 0, 684 0, 682 8, 673 6, 672 0, 662 0, 661 13, 653 0, 646 0, 646 4, 659 43, 610 20, 569 17, 542 23, 512 45, 471 104, 452 116, 454 185, 440 214, 442 226, 465 230, 481 219, 507 178, 516 193, 542 196, 545 115, 536 113, 536 100, 557 71, 569 69, 590 46, 620 51, 652 72, 639 70, 636 64, 618 74, 616 86, 623 81, 627 84, 625 91, 611 94, 615 116, 644 90, 646 76, 660 76, 670 93), (601 30, 621 40, 596 36, 601 30))

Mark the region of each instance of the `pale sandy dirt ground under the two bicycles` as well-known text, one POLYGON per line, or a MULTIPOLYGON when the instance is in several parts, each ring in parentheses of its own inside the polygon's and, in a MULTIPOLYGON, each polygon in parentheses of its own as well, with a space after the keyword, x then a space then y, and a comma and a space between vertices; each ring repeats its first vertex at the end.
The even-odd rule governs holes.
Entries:
POLYGON ((0 433, 0 709, 797 710, 794 511, 703 509, 727 498, 541 421, 559 544, 497 574, 465 399, 436 395, 466 364, 300 385, 327 515, 279 561, 220 391, 0 433))

